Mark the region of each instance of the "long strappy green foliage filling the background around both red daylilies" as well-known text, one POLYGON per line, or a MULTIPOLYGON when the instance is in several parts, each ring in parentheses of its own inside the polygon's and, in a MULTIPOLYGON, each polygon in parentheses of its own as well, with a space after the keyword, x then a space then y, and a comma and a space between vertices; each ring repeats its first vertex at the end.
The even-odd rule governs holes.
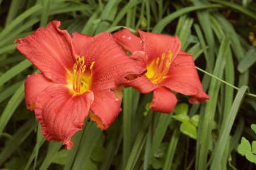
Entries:
POLYGON ((256 168, 237 152, 242 136, 250 143, 256 140, 250 128, 256 123, 255 1, 0 3, 1 169, 256 168), (179 105, 173 113, 161 114, 148 110, 152 93, 123 89, 123 110, 108 130, 102 131, 86 118, 85 128, 73 136, 75 146, 65 151, 62 143, 46 141, 34 111, 26 109, 24 81, 37 69, 14 44, 15 39, 46 27, 51 20, 60 20, 60 28, 69 34, 76 31, 96 35, 129 27, 134 33, 139 28, 177 35, 181 48, 193 54, 211 99, 192 105, 189 97, 177 94, 178 103, 184 107, 179 105))

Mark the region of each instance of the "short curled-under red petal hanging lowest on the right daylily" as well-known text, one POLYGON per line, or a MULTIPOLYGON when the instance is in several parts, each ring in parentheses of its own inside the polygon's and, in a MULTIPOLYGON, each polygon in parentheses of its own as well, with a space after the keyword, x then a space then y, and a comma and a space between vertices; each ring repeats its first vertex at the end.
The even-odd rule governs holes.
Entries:
POLYGON ((176 103, 177 98, 174 92, 166 87, 159 86, 154 90, 150 110, 170 114, 174 110, 176 103))

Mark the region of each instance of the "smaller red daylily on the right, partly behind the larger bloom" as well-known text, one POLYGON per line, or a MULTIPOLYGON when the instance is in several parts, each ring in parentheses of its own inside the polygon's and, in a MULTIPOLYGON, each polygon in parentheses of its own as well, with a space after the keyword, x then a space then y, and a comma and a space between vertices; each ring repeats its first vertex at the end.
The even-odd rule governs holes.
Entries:
POLYGON ((135 36, 129 28, 115 32, 115 41, 129 51, 147 73, 133 81, 123 80, 125 87, 132 86, 140 93, 154 91, 150 109, 170 113, 177 103, 175 93, 189 98, 190 103, 208 101, 203 91, 192 55, 180 49, 177 36, 168 36, 138 30, 135 36))

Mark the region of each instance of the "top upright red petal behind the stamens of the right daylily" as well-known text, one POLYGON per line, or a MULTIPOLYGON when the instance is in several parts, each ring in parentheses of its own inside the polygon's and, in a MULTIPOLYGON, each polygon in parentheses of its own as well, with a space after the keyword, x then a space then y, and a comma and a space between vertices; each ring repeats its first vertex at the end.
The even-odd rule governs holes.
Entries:
POLYGON ((158 57, 161 58, 165 53, 168 56, 169 51, 172 53, 171 62, 175 59, 180 51, 181 43, 177 36, 168 36, 163 34, 155 34, 152 32, 144 32, 138 30, 143 41, 143 51, 148 56, 148 62, 151 63, 158 57))

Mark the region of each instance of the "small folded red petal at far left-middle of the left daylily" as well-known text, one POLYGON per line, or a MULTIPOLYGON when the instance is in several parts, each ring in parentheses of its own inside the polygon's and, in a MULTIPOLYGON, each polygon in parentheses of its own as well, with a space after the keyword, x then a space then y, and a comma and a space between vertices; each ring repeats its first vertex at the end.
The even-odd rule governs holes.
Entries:
POLYGON ((56 84, 44 77, 43 74, 35 73, 33 76, 28 75, 25 81, 25 101, 27 109, 33 111, 34 105, 32 104, 35 103, 38 94, 52 85, 56 84))

